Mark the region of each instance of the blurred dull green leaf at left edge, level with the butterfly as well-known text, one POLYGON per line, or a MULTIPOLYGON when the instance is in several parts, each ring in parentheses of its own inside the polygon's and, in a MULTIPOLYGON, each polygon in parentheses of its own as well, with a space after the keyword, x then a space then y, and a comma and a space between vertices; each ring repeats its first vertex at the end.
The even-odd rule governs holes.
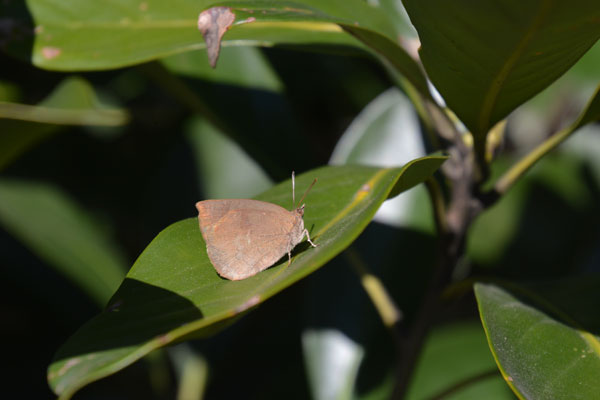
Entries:
POLYGON ((0 180, 0 223, 100 306, 123 279, 126 262, 118 248, 52 186, 0 180))

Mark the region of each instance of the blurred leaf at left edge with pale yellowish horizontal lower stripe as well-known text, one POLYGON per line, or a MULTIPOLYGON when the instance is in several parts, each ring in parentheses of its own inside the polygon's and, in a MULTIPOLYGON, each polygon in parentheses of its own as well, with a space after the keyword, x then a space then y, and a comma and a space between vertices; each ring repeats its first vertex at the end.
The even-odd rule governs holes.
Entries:
POLYGON ((67 78, 40 104, 0 102, 0 170, 44 138, 57 125, 118 126, 128 115, 110 109, 81 78, 67 78))

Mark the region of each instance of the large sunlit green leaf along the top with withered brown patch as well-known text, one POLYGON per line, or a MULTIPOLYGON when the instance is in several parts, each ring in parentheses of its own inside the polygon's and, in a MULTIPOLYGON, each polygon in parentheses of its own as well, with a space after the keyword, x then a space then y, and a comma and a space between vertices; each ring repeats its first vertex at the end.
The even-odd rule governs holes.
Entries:
POLYGON ((204 49, 196 26, 198 15, 211 6, 225 5, 231 7, 236 21, 225 35, 224 46, 326 44, 364 48, 362 42, 422 93, 428 93, 419 67, 397 44, 401 21, 392 21, 384 9, 361 0, 177 0, 168 4, 160 0, 112 4, 88 0, 69 5, 59 0, 30 0, 28 5, 36 24, 32 59, 42 68, 117 68, 204 49))

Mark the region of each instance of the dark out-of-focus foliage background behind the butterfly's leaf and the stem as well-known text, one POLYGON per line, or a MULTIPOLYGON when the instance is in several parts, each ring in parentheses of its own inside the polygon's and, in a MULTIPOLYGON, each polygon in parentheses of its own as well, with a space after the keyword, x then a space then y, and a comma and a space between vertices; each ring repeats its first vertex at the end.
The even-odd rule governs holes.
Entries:
MULTIPOLYGON (((76 75, 13 55, 0 53, 7 398, 53 396, 53 353, 106 305, 162 229, 195 215, 196 201, 252 197, 292 170, 401 165, 430 151, 410 102, 380 64, 356 52, 227 47, 215 70, 203 51, 191 51, 76 75), (226 121, 227 135, 215 120, 226 121)), ((576 117, 599 67, 596 44, 511 114, 495 176, 576 117)), ((599 130, 578 132, 476 221, 457 275, 600 272, 599 130)), ((433 232, 421 185, 386 202, 350 252, 220 335, 153 353, 76 398, 385 397, 391 338, 350 266, 368 264, 410 320, 433 263, 433 232), (335 369, 340 357, 347 362, 335 369), (335 379, 323 382, 331 371, 335 379)), ((448 398, 514 398, 473 295, 458 288, 446 300, 408 398, 431 398, 478 374, 485 379, 448 398)))

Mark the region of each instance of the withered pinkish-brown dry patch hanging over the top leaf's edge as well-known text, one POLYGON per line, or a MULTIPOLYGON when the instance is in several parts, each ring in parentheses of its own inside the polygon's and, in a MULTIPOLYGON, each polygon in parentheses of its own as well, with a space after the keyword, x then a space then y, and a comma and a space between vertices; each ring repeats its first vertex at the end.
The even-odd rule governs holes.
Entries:
POLYGON ((206 42, 208 61, 211 67, 217 65, 223 35, 235 21, 235 14, 229 7, 213 7, 198 16, 198 29, 206 42))

